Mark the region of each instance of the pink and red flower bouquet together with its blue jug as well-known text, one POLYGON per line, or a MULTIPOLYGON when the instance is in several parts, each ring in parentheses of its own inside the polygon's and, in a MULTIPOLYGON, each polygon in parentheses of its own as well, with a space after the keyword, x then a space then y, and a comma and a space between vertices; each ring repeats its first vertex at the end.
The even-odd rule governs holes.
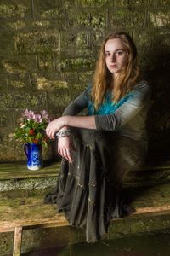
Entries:
POLYGON ((50 141, 45 132, 49 122, 46 110, 38 114, 26 109, 20 119, 19 127, 15 129, 14 138, 25 142, 27 167, 30 170, 42 168, 42 145, 47 147, 50 141))

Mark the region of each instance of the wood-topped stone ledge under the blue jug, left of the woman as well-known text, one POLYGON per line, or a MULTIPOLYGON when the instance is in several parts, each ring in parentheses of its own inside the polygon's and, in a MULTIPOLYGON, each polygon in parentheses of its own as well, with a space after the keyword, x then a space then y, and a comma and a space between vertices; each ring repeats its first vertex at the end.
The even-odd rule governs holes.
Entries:
POLYGON ((45 189, 56 184, 59 162, 44 163, 41 170, 31 171, 26 163, 0 163, 0 192, 16 189, 45 189))

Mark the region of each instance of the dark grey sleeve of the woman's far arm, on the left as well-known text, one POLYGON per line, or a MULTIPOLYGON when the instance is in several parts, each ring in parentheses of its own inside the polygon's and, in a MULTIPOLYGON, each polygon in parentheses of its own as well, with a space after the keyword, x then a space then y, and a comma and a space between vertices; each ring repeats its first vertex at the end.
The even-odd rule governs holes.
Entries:
POLYGON ((77 98, 73 102, 71 102, 67 108, 65 108, 65 111, 62 115, 77 115, 84 108, 87 108, 90 93, 89 91, 90 85, 88 85, 88 88, 84 90, 80 96, 77 96, 77 98))

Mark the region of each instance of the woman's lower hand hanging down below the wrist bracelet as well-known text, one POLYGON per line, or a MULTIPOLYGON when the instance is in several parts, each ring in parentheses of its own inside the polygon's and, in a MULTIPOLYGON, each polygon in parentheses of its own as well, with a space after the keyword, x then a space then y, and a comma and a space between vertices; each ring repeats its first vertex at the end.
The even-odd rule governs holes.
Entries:
POLYGON ((65 157, 70 163, 73 162, 72 150, 76 151, 71 137, 59 137, 58 139, 58 153, 65 157))

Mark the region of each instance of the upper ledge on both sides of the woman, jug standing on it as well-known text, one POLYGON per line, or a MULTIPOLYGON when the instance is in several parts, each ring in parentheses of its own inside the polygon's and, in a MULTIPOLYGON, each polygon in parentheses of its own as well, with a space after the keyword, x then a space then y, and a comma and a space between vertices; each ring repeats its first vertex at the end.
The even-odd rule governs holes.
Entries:
MULTIPOLYGON (((46 189, 54 187, 59 173, 60 162, 44 162, 38 171, 28 170, 26 163, 0 163, 0 192, 16 189, 46 189)), ((139 170, 129 172, 125 185, 144 186, 170 182, 170 161, 146 162, 139 170)))

